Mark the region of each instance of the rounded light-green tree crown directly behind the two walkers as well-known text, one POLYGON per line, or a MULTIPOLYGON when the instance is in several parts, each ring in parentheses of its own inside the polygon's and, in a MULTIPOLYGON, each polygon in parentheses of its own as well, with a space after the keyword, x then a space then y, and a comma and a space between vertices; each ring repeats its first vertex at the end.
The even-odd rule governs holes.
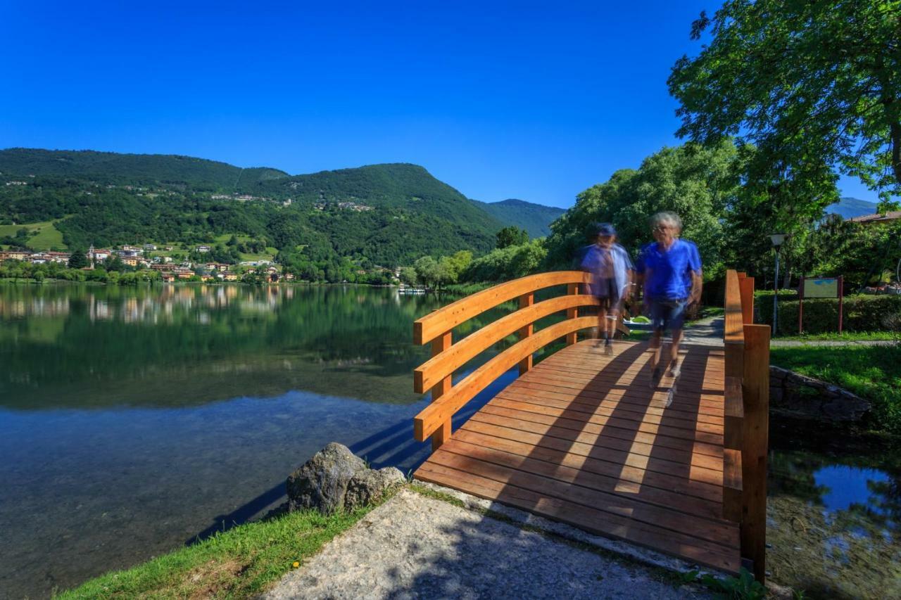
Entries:
POLYGON ((576 205, 551 225, 549 266, 569 268, 592 241, 597 222, 613 223, 623 246, 637 252, 652 241, 651 215, 667 210, 682 218, 682 237, 696 242, 705 277, 720 274, 726 208, 742 193, 740 159, 731 141, 709 150, 689 144, 660 150, 638 170, 616 171, 605 183, 579 194, 576 205))

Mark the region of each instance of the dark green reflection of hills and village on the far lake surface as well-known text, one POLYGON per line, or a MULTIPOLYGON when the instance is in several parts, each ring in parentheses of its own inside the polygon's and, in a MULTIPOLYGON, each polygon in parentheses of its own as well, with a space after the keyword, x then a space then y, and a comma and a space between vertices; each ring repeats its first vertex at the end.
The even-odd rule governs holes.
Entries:
POLYGON ((196 405, 291 389, 406 403, 434 298, 356 286, 0 288, 0 405, 196 405))

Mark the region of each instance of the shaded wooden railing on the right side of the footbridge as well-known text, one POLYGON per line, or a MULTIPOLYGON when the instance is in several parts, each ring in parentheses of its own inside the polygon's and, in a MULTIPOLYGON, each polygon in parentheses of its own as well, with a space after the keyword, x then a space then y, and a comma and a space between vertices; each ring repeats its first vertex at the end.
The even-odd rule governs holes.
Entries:
POLYGON ((754 320, 754 277, 726 271, 723 516, 739 523, 742 558, 766 575, 769 326, 754 320))

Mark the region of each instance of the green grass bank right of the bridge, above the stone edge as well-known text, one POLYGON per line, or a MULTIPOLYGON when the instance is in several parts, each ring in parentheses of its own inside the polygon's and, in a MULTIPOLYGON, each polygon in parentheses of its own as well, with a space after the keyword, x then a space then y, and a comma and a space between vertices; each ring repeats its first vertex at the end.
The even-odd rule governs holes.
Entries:
POLYGON ((868 399, 871 424, 901 433, 901 344, 777 347, 770 361, 868 399))

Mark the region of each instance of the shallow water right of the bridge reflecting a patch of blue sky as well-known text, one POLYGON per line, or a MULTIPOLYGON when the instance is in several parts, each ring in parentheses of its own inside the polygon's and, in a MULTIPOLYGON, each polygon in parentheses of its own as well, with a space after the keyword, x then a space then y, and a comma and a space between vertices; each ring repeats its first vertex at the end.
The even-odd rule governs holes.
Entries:
POLYGON ((781 419, 770 435, 771 578, 806 597, 901 597, 897 441, 781 419))

